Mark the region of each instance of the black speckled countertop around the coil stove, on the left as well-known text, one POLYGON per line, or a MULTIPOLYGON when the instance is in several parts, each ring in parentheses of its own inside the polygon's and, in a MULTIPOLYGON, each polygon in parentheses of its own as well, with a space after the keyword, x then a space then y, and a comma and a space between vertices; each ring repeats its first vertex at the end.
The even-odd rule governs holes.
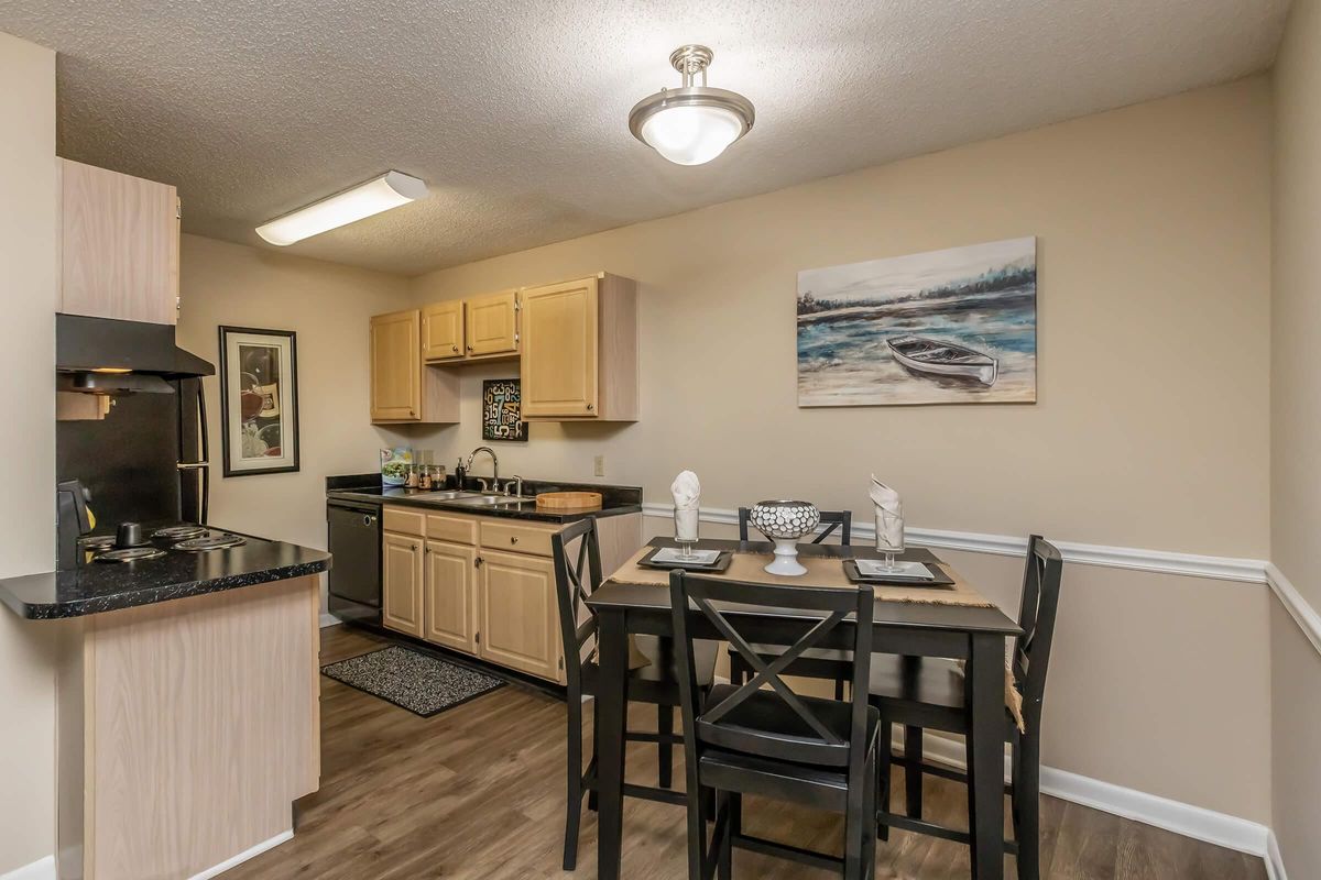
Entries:
POLYGON ((55 620, 301 578, 330 567, 329 553, 243 537, 247 542, 240 546, 209 553, 173 550, 155 559, 89 561, 71 571, 4 578, 0 602, 20 617, 55 620))

